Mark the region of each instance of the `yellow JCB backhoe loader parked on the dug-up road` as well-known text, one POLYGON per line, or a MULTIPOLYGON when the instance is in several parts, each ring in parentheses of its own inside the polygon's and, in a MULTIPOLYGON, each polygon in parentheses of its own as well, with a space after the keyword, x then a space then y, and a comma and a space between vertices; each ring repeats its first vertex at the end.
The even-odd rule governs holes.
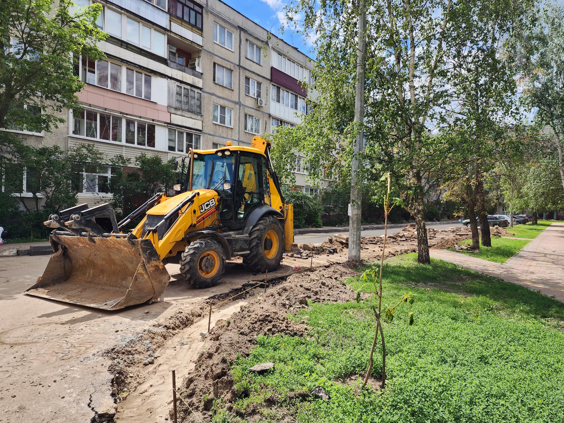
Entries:
POLYGON ((25 293, 116 310, 158 299, 170 280, 168 261, 179 261, 180 274, 195 288, 216 284, 226 260, 237 255, 253 272, 274 270, 292 249, 293 205, 285 204, 269 149, 259 136, 251 147, 190 149, 177 195, 159 193, 121 222, 107 204, 51 215, 45 224, 55 229, 54 254, 25 293), (112 232, 95 223, 101 211, 109 214, 112 232))

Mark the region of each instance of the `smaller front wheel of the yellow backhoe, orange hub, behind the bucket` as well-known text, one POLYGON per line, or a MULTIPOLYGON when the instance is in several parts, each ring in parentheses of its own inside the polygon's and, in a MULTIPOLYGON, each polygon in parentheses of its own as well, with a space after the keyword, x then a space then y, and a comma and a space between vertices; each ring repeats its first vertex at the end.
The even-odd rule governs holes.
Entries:
POLYGON ((190 243, 180 256, 180 274, 193 288, 213 287, 223 276, 225 261, 225 252, 217 241, 199 239, 190 243))

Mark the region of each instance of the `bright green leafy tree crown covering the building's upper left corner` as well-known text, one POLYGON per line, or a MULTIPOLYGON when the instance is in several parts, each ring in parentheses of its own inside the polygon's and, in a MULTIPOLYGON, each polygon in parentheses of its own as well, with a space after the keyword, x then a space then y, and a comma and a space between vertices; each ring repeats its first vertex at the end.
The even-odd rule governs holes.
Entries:
POLYGON ((2 1, 0 127, 49 131, 66 121, 60 116, 65 108, 78 106, 76 92, 84 84, 73 76, 71 55, 101 58, 96 43, 107 34, 96 27, 102 5, 72 6, 70 0, 2 1))

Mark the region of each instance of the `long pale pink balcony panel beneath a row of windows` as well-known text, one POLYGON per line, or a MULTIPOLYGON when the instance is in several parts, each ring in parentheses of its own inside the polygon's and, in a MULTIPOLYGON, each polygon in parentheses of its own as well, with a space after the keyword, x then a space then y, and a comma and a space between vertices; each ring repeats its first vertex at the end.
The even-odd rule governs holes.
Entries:
POLYGON ((103 107, 116 112, 134 114, 147 119, 170 122, 170 113, 165 105, 149 102, 148 100, 123 94, 122 92, 107 90, 91 84, 77 94, 82 103, 103 107))

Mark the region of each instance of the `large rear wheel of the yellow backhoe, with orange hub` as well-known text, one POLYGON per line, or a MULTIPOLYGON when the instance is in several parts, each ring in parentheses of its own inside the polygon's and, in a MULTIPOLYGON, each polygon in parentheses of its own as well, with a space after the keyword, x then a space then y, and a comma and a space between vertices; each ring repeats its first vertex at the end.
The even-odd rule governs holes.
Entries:
POLYGON ((249 233, 249 251, 243 256, 243 264, 253 272, 275 270, 280 266, 284 253, 284 232, 278 219, 261 218, 249 233))

